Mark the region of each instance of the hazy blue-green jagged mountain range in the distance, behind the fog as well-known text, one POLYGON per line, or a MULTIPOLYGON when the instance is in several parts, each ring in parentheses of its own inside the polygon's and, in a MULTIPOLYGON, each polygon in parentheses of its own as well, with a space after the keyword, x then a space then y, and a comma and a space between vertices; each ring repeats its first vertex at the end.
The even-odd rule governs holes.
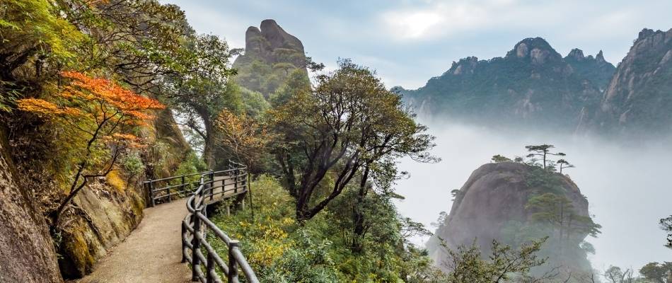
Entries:
POLYGON ((543 38, 518 42, 505 57, 453 62, 414 91, 396 88, 417 112, 493 124, 574 129, 584 105, 597 103, 615 67, 572 50, 558 54, 543 38))

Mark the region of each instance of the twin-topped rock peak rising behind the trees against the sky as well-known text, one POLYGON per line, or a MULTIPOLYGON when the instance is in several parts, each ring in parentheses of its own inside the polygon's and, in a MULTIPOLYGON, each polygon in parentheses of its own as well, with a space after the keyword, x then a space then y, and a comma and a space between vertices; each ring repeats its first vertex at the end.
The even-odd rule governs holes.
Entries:
POLYGON ((236 58, 236 81, 268 97, 296 70, 306 70, 301 40, 286 33, 275 21, 264 20, 260 28, 245 32, 245 54, 236 58))

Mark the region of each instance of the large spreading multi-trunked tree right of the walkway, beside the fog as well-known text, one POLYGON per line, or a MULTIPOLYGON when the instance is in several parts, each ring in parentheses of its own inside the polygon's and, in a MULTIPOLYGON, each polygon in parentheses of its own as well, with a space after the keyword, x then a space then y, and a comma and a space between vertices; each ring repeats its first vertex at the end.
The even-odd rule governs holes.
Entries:
POLYGON ((432 160, 427 149, 434 138, 372 71, 344 60, 317 81, 272 110, 274 154, 299 221, 322 211, 362 168, 385 156, 432 160))

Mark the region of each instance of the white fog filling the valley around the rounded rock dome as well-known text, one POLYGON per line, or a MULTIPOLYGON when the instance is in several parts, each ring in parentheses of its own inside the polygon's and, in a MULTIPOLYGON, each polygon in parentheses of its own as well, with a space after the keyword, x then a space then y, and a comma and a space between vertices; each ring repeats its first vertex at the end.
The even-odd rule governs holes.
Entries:
MULTIPOLYGON (((593 219, 603 226, 598 238, 588 238, 596 248, 593 267, 609 265, 639 270, 652 261, 672 260, 665 248, 666 233, 658 221, 672 214, 672 146, 662 142, 622 146, 612 141, 560 134, 509 132, 444 121, 424 121, 436 136, 433 153, 443 158, 436 164, 405 159, 400 169, 410 178, 398 182, 406 197, 398 202, 402 214, 430 224, 439 212, 449 212, 451 190, 459 189, 478 166, 495 154, 525 156, 524 146, 554 144, 577 168, 567 173, 588 197, 593 219)), ((415 239, 424 243, 425 239, 415 239)))

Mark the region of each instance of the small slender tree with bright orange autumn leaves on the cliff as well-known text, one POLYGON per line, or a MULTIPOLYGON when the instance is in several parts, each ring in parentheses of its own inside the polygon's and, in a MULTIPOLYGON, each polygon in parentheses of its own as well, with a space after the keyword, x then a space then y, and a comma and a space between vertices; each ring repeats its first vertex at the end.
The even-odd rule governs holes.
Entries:
POLYGON ((146 111, 164 108, 158 100, 140 96, 108 79, 76 71, 63 71, 61 76, 68 83, 55 95, 17 101, 19 109, 66 126, 64 137, 83 141, 69 144, 78 157, 66 197, 50 212, 54 227, 59 226, 60 215, 91 178, 108 175, 122 154, 143 146, 142 139, 130 133, 151 119, 146 111))

